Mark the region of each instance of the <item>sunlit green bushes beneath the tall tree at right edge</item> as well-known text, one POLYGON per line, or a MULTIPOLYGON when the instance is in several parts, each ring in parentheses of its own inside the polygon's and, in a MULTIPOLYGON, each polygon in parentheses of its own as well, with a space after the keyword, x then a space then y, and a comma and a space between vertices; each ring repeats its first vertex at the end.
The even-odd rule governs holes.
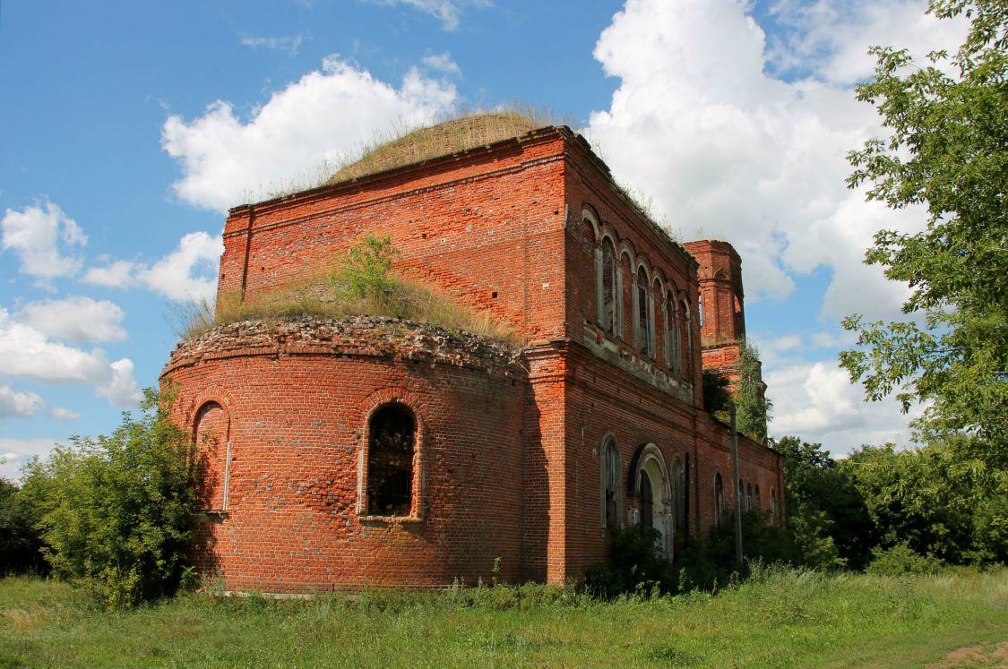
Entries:
POLYGON ((865 446, 841 463, 883 547, 963 563, 1008 561, 1008 451, 960 436, 916 450, 865 446))

